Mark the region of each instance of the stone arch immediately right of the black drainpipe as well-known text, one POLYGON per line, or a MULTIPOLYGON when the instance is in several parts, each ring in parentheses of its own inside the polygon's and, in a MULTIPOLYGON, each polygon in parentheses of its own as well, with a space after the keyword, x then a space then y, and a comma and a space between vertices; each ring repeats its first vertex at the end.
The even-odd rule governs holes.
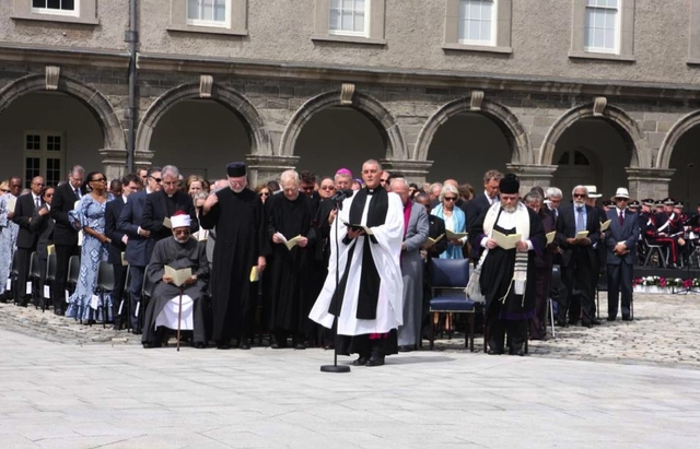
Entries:
MULTIPOLYGON (((196 83, 183 84, 177 87, 173 87, 158 97, 148 108, 143 118, 139 122, 139 129, 136 134, 137 155, 139 152, 140 154, 152 154, 150 143, 153 130, 155 129, 159 120, 171 109, 171 107, 173 107, 173 105, 183 99, 201 97, 200 85, 196 83)), ((265 127, 262 117, 258 114, 255 106, 253 106, 253 103, 250 103, 245 96, 233 90, 213 83, 211 86, 211 96, 206 98, 211 98, 222 104, 243 119, 243 126, 250 134, 250 154, 272 154, 270 134, 265 127)))

